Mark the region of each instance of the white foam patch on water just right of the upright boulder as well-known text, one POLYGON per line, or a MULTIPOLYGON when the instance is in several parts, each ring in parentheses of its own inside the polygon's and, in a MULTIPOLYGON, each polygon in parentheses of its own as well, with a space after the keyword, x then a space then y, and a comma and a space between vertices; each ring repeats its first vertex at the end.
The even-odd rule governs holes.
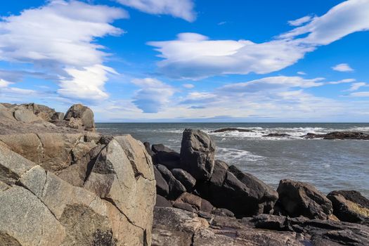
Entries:
POLYGON ((266 157, 260 155, 254 155, 247 150, 238 150, 235 148, 216 148, 216 158, 219 160, 224 160, 232 164, 232 162, 256 162, 259 160, 263 160, 266 157))

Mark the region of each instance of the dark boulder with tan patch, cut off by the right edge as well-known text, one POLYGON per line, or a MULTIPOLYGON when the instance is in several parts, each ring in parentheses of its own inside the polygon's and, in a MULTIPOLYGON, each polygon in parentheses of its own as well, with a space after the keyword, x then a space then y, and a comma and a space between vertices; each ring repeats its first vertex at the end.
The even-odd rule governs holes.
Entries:
POLYGON ((333 214, 341 221, 369 225, 369 200, 356 190, 335 190, 327 195, 333 214))

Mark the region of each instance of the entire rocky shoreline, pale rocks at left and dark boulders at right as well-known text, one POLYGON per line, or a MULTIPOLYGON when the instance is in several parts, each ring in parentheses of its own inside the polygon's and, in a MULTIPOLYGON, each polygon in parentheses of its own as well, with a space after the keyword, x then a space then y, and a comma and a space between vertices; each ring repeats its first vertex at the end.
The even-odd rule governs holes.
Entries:
POLYGON ((289 179, 273 190, 215 151, 200 130, 176 153, 96 133, 83 105, 0 103, 0 245, 369 245, 357 191, 289 179))

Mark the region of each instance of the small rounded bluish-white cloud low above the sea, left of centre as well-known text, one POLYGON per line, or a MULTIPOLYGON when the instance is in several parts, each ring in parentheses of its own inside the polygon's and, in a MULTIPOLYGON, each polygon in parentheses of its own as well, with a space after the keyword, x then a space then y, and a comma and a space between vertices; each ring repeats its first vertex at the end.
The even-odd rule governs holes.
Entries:
POLYGON ((141 89, 136 91, 132 103, 143 110, 143 112, 148 113, 156 113, 162 110, 176 91, 168 84, 153 78, 133 79, 132 83, 141 87, 141 89))

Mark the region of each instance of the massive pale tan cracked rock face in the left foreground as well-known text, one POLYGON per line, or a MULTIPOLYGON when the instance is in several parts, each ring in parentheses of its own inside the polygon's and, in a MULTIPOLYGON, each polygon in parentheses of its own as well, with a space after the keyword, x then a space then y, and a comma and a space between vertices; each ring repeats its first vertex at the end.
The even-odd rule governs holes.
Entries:
POLYGON ((0 245, 150 245, 155 180, 141 142, 0 138, 0 245))

